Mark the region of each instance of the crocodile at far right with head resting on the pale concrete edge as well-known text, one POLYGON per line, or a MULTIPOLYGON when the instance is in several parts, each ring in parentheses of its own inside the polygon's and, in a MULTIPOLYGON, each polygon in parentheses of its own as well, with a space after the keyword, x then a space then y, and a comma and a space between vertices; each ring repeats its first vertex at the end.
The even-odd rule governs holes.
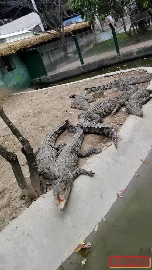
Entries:
POLYGON ((152 97, 152 90, 138 88, 135 93, 125 102, 126 112, 133 115, 142 116, 142 105, 146 104, 152 97))

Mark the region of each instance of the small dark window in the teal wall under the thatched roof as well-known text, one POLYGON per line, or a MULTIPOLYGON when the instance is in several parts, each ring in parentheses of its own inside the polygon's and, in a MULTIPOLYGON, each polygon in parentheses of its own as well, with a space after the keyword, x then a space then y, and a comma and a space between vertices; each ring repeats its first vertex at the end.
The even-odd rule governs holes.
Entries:
POLYGON ((2 74, 5 74, 13 69, 15 69, 15 65, 12 61, 12 57, 10 55, 2 56, 0 58, 0 70, 2 74))

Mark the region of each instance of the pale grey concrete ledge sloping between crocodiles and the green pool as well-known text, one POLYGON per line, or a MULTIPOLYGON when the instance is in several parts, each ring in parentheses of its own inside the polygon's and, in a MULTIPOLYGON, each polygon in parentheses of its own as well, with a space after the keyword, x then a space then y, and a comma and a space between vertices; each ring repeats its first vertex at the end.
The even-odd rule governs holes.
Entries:
POLYGON ((86 238, 116 200, 116 192, 130 182, 140 158, 147 156, 152 143, 152 100, 143 112, 142 118, 128 117, 118 133, 117 149, 112 144, 89 159, 84 168, 96 174, 75 180, 63 212, 51 191, 0 232, 1 270, 55 270, 74 251, 78 238, 86 238))

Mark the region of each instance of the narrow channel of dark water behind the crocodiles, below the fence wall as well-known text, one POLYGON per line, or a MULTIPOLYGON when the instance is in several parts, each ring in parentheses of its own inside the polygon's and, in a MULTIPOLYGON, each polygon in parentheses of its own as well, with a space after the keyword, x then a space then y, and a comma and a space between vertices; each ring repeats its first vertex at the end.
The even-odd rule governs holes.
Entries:
POLYGON ((89 72, 89 73, 86 73, 84 75, 75 76, 73 78, 69 78, 69 79, 66 79, 64 81, 60 81, 57 83, 40 85, 40 87, 38 87, 38 88, 44 88, 44 87, 49 87, 49 86, 54 86, 54 85, 61 85, 64 83, 75 82, 75 81, 83 80, 86 78, 94 77, 97 75, 105 74, 108 72, 113 72, 113 71, 118 71, 118 70, 123 70, 123 69, 128 69, 128 68, 144 67, 144 66, 152 67, 152 56, 134 59, 132 61, 123 62, 121 64, 111 65, 108 68, 98 69, 94 72, 89 72))

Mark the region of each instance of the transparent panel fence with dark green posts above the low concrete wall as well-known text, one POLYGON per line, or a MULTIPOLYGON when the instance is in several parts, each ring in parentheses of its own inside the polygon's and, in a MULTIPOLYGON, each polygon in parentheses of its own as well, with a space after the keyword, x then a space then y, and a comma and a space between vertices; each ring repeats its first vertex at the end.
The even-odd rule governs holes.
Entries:
POLYGON ((135 15, 137 20, 126 19, 122 25, 109 25, 104 32, 96 35, 93 30, 82 32, 74 37, 40 46, 39 51, 47 73, 70 69, 83 63, 92 62, 116 53, 152 45, 151 16, 147 12, 135 15), (147 17, 146 17, 147 16, 147 17))

